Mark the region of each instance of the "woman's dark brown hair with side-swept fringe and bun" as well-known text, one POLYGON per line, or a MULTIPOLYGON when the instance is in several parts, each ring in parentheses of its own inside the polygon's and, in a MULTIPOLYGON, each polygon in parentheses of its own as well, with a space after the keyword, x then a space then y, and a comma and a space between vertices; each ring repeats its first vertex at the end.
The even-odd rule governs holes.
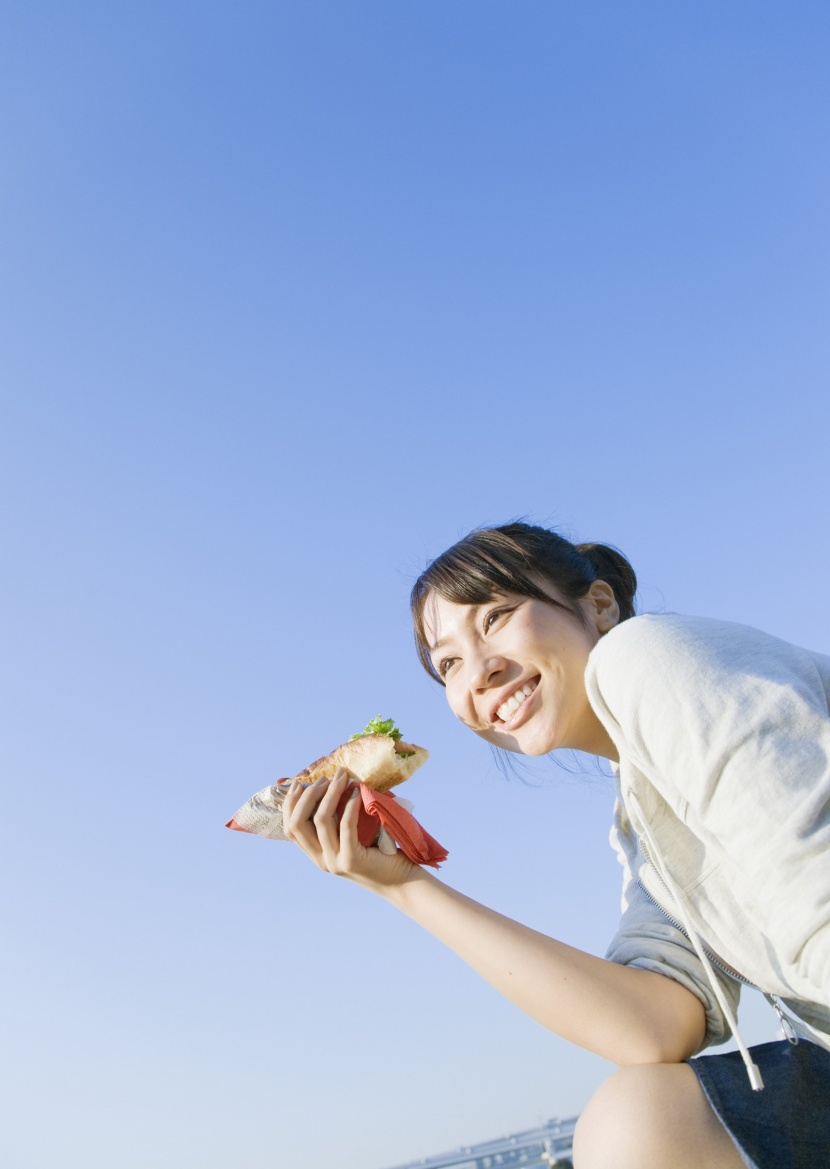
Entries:
POLYGON ((582 620, 576 602, 597 580, 606 581, 614 592, 620 620, 632 617, 637 577, 616 548, 607 544, 572 544, 551 528, 518 520, 470 532, 436 556, 413 587, 410 607, 421 664, 443 685, 429 656, 423 628, 423 609, 430 593, 457 604, 484 604, 503 593, 518 593, 566 608, 582 620), (552 597, 545 584, 553 586, 569 603, 552 597))

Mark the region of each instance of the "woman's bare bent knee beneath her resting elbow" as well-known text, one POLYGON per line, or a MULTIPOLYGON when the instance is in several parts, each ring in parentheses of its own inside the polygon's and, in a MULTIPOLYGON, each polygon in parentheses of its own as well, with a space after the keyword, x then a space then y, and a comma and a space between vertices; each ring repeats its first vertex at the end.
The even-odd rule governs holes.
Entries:
POLYGON ((574 1134, 574 1169, 746 1169, 687 1064, 623 1067, 574 1134))

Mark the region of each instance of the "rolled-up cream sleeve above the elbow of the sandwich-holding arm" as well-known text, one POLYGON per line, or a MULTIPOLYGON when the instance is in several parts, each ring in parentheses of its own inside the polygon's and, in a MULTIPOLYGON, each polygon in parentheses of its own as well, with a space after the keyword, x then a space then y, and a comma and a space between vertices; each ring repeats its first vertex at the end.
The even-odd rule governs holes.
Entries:
MULTIPOLYGON (((729 1037, 729 1025, 692 943, 638 884, 635 874, 642 864, 642 855, 620 800, 615 808, 610 842, 623 867, 623 912, 606 957, 621 966, 651 970, 679 982, 703 1003, 706 1011, 706 1036, 701 1047, 725 1043, 729 1037)), ((735 1015, 740 983, 720 970, 715 970, 714 975, 735 1015)))

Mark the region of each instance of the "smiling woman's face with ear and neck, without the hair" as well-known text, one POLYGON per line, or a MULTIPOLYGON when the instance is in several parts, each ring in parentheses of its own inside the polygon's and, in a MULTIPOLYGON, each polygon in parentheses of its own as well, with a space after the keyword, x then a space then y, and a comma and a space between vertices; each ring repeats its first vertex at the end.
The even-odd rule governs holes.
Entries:
POLYGON ((583 621, 517 594, 483 604, 430 594, 427 641, 456 718, 487 742, 523 755, 574 747, 616 759, 588 703, 585 670, 620 610, 604 581, 595 581, 576 603, 583 621))

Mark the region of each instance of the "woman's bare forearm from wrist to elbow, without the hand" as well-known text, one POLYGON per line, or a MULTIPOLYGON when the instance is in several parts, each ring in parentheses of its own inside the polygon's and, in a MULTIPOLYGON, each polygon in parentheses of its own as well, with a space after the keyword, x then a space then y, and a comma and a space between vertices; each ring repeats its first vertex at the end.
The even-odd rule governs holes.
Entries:
POLYGON ((378 892, 527 1015, 615 1064, 676 1063, 703 1042, 703 1005, 671 978, 547 938, 422 869, 378 892))

